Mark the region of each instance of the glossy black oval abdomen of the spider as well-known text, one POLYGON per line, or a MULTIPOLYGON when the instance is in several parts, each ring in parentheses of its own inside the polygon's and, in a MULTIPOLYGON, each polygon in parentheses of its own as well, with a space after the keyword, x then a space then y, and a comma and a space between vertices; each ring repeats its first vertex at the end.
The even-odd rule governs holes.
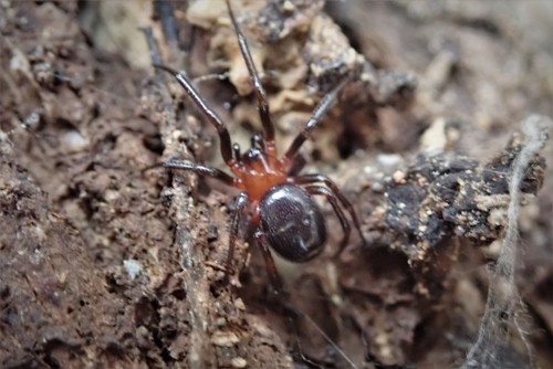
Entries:
POLYGON ((260 225, 271 247, 291 262, 315 257, 326 241, 321 210, 303 188, 272 187, 259 202, 260 225))

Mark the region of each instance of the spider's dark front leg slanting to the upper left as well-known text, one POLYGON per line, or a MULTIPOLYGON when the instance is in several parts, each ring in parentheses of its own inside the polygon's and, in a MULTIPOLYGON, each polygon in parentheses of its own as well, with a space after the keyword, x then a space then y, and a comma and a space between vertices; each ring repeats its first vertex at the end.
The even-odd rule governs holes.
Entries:
POLYGON ((200 94, 196 91, 196 88, 192 86, 192 83, 190 82, 190 80, 188 80, 186 75, 165 65, 160 64, 153 64, 153 65, 154 67, 157 67, 159 70, 173 74, 175 78, 177 78, 178 83, 182 86, 182 88, 185 88, 186 93, 194 102, 198 110, 200 110, 206 117, 206 119, 217 129, 220 139, 222 159, 229 167, 232 168, 236 164, 234 158, 232 158, 232 143, 230 140, 229 130, 227 129, 227 126, 225 126, 225 124, 222 123, 221 118, 219 118, 217 113, 215 113, 215 110, 206 104, 206 102, 201 98, 200 94))

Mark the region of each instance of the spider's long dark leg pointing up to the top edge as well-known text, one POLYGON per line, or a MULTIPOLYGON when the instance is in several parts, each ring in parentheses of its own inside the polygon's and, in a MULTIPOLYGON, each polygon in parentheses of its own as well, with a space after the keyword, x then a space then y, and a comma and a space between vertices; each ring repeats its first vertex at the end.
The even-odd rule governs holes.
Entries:
POLYGON ((255 68, 255 64, 253 64, 253 59, 251 57, 250 49, 248 48, 248 43, 246 42, 246 38, 238 25, 237 19, 232 9, 230 7, 230 1, 227 0, 227 8, 229 9, 230 20, 232 21, 232 25, 234 27, 234 31, 238 38, 238 45, 240 48, 240 52, 242 53, 242 57, 246 62, 246 66, 248 67, 248 72, 250 72, 250 78, 253 84, 253 92, 255 93, 255 97, 258 99, 258 110, 259 117, 261 118, 261 124, 263 125, 263 130, 265 133, 265 146, 267 152, 270 156, 276 156, 276 145, 274 144, 274 126, 271 122, 271 114, 269 112, 269 102, 267 99, 267 93, 261 84, 261 78, 259 77, 258 71, 255 68))

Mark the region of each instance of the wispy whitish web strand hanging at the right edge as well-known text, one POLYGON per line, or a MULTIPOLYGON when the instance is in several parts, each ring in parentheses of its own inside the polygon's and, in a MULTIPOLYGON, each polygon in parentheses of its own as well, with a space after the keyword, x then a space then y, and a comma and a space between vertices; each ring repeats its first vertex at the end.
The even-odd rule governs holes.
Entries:
POLYGON ((528 117, 522 124, 525 139, 519 156, 512 165, 505 235, 501 244, 498 261, 490 271, 488 301, 480 323, 478 340, 468 352, 461 369, 510 368, 512 363, 505 362, 504 358, 502 359, 509 352, 510 325, 517 328, 518 334, 525 345, 530 361, 532 361, 532 347, 518 321, 519 315, 524 314, 524 305, 514 283, 514 272, 518 262, 517 242, 519 236, 520 186, 532 158, 547 140, 547 130, 551 127, 551 119, 538 115, 528 117))

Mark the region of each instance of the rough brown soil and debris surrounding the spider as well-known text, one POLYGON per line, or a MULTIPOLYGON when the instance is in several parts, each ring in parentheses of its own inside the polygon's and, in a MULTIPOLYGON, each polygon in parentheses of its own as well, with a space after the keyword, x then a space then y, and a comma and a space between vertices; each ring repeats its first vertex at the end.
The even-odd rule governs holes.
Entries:
MULTIPOLYGON (((163 168, 225 164, 217 130, 152 63, 186 71, 242 148, 262 130, 225 2, 2 1, 0 367, 463 365, 521 122, 553 116, 553 4, 232 8, 281 152, 351 77, 304 145, 303 172, 337 183, 367 242, 352 224, 334 257, 343 232, 322 198, 324 252, 275 256, 286 307, 247 219, 226 267, 237 191, 163 168)), ((508 346, 487 344, 497 368, 553 368, 552 151, 532 158, 520 189, 525 307, 505 318, 508 346)))

